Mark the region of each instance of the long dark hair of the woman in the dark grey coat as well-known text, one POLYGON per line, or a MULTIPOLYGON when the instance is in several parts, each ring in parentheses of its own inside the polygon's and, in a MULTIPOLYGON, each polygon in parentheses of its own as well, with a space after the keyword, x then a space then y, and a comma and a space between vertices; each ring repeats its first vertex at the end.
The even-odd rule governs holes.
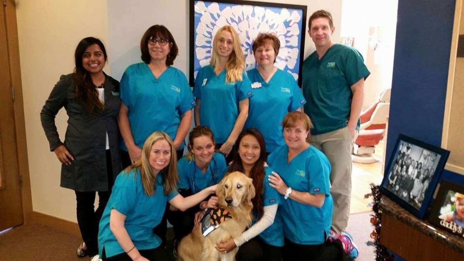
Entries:
POLYGON ((74 60, 76 67, 74 68, 74 84, 76 99, 84 104, 84 108, 92 114, 95 114, 97 111, 104 108, 103 103, 98 98, 97 86, 93 84, 90 73, 84 69, 82 65, 82 57, 85 50, 89 46, 97 44, 102 49, 105 62, 107 60, 106 49, 100 39, 94 37, 86 37, 82 39, 76 47, 76 52, 74 52, 74 60))

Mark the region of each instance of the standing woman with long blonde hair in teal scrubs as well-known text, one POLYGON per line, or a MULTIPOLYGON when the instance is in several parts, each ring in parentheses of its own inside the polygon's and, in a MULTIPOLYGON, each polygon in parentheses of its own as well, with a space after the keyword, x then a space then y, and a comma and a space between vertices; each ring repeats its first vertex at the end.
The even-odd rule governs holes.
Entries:
MULTIPOLYGON (((229 153, 248 117, 251 84, 245 72, 240 38, 232 26, 223 26, 213 39, 211 63, 198 71, 193 87, 195 124, 211 128, 216 149, 229 153)), ((229 155, 229 156, 228 156, 229 155)))

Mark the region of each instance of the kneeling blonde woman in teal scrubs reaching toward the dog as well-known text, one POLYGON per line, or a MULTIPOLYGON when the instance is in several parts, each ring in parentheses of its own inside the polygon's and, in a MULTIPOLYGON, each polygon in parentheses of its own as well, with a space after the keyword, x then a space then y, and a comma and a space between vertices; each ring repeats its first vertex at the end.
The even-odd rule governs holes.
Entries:
POLYGON ((216 192, 216 186, 183 197, 172 139, 160 131, 150 135, 140 159, 117 176, 103 212, 98 248, 103 260, 168 260, 153 228, 161 222, 167 202, 182 211, 216 192))

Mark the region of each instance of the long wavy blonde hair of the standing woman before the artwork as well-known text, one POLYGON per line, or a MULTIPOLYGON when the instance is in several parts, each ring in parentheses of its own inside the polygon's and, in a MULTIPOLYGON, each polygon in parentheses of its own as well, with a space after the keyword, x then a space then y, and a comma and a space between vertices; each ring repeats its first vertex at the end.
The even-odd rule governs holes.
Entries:
POLYGON ((213 52, 211 54, 211 65, 214 68, 219 65, 219 53, 217 49, 219 34, 223 31, 231 33, 233 40, 233 51, 229 55, 229 60, 226 64, 226 83, 235 83, 242 80, 242 73, 245 70, 245 56, 240 47, 240 38, 232 26, 223 26, 216 33, 213 39, 213 52))

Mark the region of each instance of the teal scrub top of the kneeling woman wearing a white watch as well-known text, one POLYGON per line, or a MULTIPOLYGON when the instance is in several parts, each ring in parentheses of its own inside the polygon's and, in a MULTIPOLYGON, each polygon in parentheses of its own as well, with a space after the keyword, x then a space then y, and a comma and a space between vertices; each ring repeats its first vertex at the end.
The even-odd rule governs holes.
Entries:
POLYGON ((287 163, 287 158, 288 147, 284 145, 274 150, 267 162, 287 186, 311 194, 325 194, 325 200, 322 207, 317 208, 281 196, 278 209, 284 236, 296 244, 322 244, 329 235, 334 204, 330 196, 329 160, 314 146, 300 152, 290 163, 287 163))

